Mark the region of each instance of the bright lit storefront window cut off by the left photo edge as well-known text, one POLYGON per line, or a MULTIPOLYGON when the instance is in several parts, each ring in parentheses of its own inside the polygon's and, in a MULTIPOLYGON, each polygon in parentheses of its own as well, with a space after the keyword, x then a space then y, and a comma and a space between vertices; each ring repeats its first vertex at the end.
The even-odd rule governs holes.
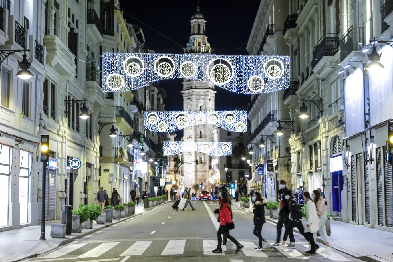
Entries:
POLYGON ((0 227, 8 225, 9 174, 11 173, 12 148, 0 144, 0 199, 6 203, 0 213, 0 227))

